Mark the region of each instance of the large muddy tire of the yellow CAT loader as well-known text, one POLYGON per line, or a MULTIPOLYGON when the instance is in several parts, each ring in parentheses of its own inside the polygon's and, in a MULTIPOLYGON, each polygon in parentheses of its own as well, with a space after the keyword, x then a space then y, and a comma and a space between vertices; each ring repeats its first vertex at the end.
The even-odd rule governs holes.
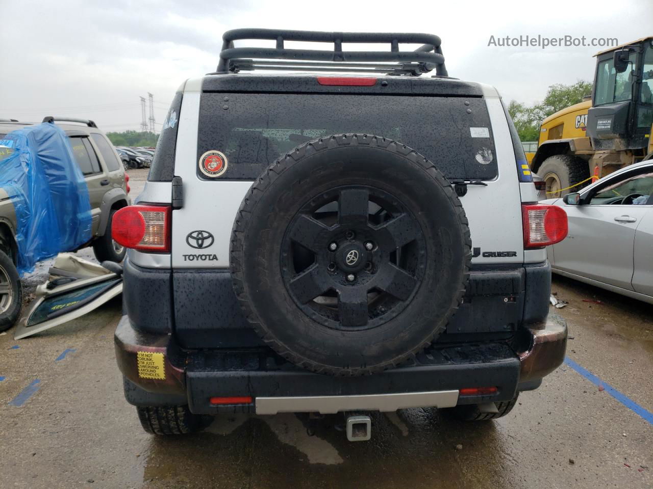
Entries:
POLYGON ((585 160, 571 155, 549 156, 537 170, 546 183, 547 199, 564 197, 571 192, 578 192, 584 185, 577 185, 590 177, 590 168, 585 160), (576 185, 576 186, 573 186, 576 185), (573 186, 572 188, 569 188, 573 186))

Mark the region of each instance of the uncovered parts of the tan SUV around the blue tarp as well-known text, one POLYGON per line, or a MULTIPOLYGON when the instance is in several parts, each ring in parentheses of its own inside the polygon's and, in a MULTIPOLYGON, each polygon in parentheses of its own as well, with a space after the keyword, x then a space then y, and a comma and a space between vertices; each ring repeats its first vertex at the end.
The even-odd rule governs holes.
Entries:
MULTIPOLYGON (((88 186, 91 208, 91 239, 80 247, 93 246, 98 261, 120 262, 125 248, 113 241, 111 224, 114 213, 131 203, 127 175, 111 142, 93 121, 45 117, 68 136, 74 160, 88 186)), ((1 122, 0 140, 9 141, 7 134, 33 123, 1 122)), ((0 160, 12 154, 12 148, 0 145, 0 160)), ((0 331, 10 327, 20 312, 21 287, 18 264, 18 226, 12 198, 0 188, 0 331)), ((76 251, 76 250, 61 250, 76 251)))

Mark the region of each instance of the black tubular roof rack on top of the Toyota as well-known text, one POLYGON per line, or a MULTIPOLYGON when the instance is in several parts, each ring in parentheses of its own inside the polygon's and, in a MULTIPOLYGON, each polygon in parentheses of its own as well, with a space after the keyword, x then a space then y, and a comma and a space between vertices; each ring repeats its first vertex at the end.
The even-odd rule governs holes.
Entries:
POLYGON ((240 70, 311 70, 383 72, 419 76, 436 70, 447 76, 438 36, 421 33, 336 33, 282 29, 234 29, 222 37, 218 74, 240 70), (234 40, 266 39, 276 48, 234 48, 234 40), (286 49, 284 41, 332 42, 333 50, 286 49), (389 51, 343 51, 343 42, 390 44, 389 51), (400 51, 400 43, 422 44, 415 51, 400 51), (274 60, 274 61, 260 61, 274 60), (398 62, 397 64, 390 62, 398 62), (334 69, 336 68, 336 69, 334 69))

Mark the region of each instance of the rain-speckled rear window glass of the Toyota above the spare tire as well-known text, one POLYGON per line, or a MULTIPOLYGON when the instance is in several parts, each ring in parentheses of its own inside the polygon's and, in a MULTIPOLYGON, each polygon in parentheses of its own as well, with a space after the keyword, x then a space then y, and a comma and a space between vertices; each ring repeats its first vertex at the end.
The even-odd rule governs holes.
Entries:
POLYGON ((406 144, 449 179, 497 176, 485 101, 472 97, 204 93, 197 158, 221 151, 222 179, 252 180, 295 146, 345 132, 406 144))

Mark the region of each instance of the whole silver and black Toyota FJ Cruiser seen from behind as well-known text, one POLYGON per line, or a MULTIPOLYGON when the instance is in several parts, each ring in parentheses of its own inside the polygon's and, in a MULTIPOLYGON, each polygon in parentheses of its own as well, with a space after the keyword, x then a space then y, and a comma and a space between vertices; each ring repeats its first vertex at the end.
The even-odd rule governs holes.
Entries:
POLYGON ((242 29, 217 71, 182 84, 113 223, 131 248, 116 359, 146 431, 235 411, 494 419, 562 363, 545 246, 566 215, 537 204, 498 93, 449 78, 438 37, 242 29), (251 38, 277 48, 233 48, 251 38), (289 61, 284 40, 335 52, 289 61), (376 74, 307 73, 326 65, 376 74), (302 73, 243 73, 271 66, 302 73))

